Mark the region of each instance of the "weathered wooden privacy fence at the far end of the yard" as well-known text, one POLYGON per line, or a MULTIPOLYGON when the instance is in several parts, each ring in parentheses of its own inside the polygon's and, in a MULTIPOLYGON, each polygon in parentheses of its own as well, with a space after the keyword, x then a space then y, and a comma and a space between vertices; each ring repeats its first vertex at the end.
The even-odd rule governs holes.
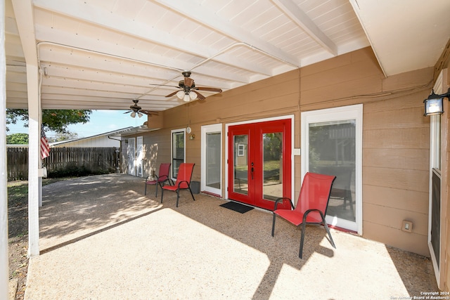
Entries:
MULTIPOLYGON (((28 179, 28 148, 7 148, 8 181, 28 179)), ((118 149, 108 148, 51 148, 50 156, 42 161, 49 177, 84 176, 115 173, 118 149), (116 151, 117 150, 117 151, 116 151)))

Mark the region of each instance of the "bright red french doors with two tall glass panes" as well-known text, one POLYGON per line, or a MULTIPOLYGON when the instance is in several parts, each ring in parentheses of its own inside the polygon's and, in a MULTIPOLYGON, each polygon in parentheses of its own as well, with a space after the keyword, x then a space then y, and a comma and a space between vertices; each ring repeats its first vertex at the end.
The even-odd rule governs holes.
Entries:
POLYGON ((272 210, 291 197, 290 119, 229 126, 228 138, 229 199, 272 210))

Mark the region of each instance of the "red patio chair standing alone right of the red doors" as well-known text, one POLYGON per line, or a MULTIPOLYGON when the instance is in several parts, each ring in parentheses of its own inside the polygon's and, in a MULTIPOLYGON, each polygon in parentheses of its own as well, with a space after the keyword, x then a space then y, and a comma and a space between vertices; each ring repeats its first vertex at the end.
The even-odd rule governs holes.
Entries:
POLYGON ((304 230, 306 224, 320 225, 323 223, 328 236, 330 237, 331 245, 336 248, 333 237, 331 237, 330 229, 325 221, 326 209, 328 208, 328 201, 330 200, 331 187, 335 181, 336 176, 307 173, 303 178, 302 188, 300 188, 300 195, 297 202, 297 207, 294 207, 292 200, 287 197, 278 198, 274 207, 274 222, 272 223, 272 236, 274 236, 275 219, 276 216, 293 223, 295 226, 302 224, 302 237, 300 239, 300 252, 298 256, 302 259, 304 230), (276 209, 278 202, 289 200, 292 209, 276 209))

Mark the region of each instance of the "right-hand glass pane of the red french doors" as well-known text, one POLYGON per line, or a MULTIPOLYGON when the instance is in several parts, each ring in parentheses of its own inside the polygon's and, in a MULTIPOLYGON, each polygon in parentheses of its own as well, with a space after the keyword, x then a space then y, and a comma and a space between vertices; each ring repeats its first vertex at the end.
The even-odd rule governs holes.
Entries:
POLYGON ((283 133, 263 133, 262 193, 265 200, 283 197, 283 133))

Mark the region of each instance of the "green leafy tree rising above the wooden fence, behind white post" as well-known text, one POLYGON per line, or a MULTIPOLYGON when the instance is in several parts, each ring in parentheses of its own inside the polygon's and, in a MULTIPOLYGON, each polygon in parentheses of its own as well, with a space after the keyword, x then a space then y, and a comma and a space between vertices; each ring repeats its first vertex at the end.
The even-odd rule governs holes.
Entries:
MULTIPOLYGON (((42 125, 45 130, 57 133, 69 133, 67 127, 70 124, 89 122, 89 115, 92 110, 42 110, 42 125)), ((6 109, 6 125, 16 124, 17 121, 24 121, 28 127, 28 110, 6 109)), ((6 126, 6 131, 9 131, 6 126)))

